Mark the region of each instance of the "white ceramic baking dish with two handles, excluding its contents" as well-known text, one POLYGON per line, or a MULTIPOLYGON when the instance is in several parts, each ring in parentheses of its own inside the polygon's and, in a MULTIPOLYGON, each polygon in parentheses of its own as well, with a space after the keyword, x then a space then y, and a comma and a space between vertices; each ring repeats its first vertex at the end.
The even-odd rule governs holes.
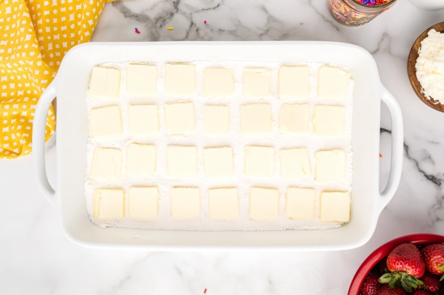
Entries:
POLYGON ((359 247, 370 239, 381 210, 395 193, 401 177, 403 124, 401 110, 382 86, 370 53, 355 45, 311 41, 87 43, 66 54, 56 78, 42 94, 35 112, 33 149, 39 188, 60 213, 66 236, 85 246, 343 250, 359 247), (351 221, 328 230, 256 232, 167 231, 94 225, 87 214, 83 192, 88 136, 85 94, 90 71, 100 63, 130 60, 320 62, 348 67, 355 80, 351 221), (57 184, 53 189, 44 165, 44 127, 46 112, 55 97, 57 184), (388 184, 379 193, 381 101, 391 114, 392 166, 388 184))

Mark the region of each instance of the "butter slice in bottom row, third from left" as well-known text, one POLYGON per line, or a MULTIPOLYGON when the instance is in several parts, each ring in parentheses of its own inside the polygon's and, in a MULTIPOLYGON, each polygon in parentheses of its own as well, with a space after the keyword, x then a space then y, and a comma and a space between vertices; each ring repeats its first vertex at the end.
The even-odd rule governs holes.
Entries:
POLYGON ((200 193, 197 187, 171 188, 171 217, 193 219, 200 216, 200 193))

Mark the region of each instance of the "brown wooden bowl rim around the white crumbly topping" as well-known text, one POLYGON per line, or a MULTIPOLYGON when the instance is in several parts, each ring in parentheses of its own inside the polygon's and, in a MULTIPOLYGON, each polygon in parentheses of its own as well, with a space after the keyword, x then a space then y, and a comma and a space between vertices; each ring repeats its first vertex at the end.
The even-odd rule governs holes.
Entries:
POLYGON ((427 33, 431 29, 435 29, 437 32, 443 33, 444 22, 433 25, 424 32, 422 32, 422 34, 419 35, 419 37, 413 43, 413 46, 411 46, 410 54, 408 55, 408 60, 407 60, 407 74, 408 74, 408 79, 410 80, 411 87, 413 87, 413 90, 416 92, 416 95, 418 95, 418 97, 422 100, 422 102, 435 110, 444 112, 444 104, 440 104, 439 102, 435 101, 433 98, 430 100, 427 99, 424 93, 421 92, 422 87, 418 81, 418 78, 416 77, 415 64, 416 64, 416 59, 418 58, 418 50, 419 47, 421 47, 421 41, 424 40, 425 37, 427 37, 427 33))

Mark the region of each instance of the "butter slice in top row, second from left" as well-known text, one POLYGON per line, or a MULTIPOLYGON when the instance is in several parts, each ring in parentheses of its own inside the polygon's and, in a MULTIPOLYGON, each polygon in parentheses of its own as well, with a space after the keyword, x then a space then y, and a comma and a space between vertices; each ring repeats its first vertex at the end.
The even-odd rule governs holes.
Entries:
POLYGON ((130 95, 154 96, 157 70, 155 66, 129 64, 126 67, 126 91, 130 95))

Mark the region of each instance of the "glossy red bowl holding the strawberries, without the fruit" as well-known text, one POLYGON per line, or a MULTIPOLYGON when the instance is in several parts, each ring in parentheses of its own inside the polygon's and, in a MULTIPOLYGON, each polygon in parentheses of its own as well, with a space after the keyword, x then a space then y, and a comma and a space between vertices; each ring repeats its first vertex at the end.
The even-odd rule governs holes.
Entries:
POLYGON ((364 262, 362 262, 361 266, 359 266, 358 271, 356 272, 353 280, 350 284, 350 288, 348 289, 348 295, 359 295, 361 292, 362 284, 366 279, 367 275, 370 273, 370 270, 378 264, 378 262, 385 258, 390 251, 402 243, 413 243, 415 245, 427 245, 433 243, 444 243, 444 236, 430 234, 430 233, 418 233, 411 234, 407 236, 402 236, 391 240, 375 251, 371 253, 364 262))

